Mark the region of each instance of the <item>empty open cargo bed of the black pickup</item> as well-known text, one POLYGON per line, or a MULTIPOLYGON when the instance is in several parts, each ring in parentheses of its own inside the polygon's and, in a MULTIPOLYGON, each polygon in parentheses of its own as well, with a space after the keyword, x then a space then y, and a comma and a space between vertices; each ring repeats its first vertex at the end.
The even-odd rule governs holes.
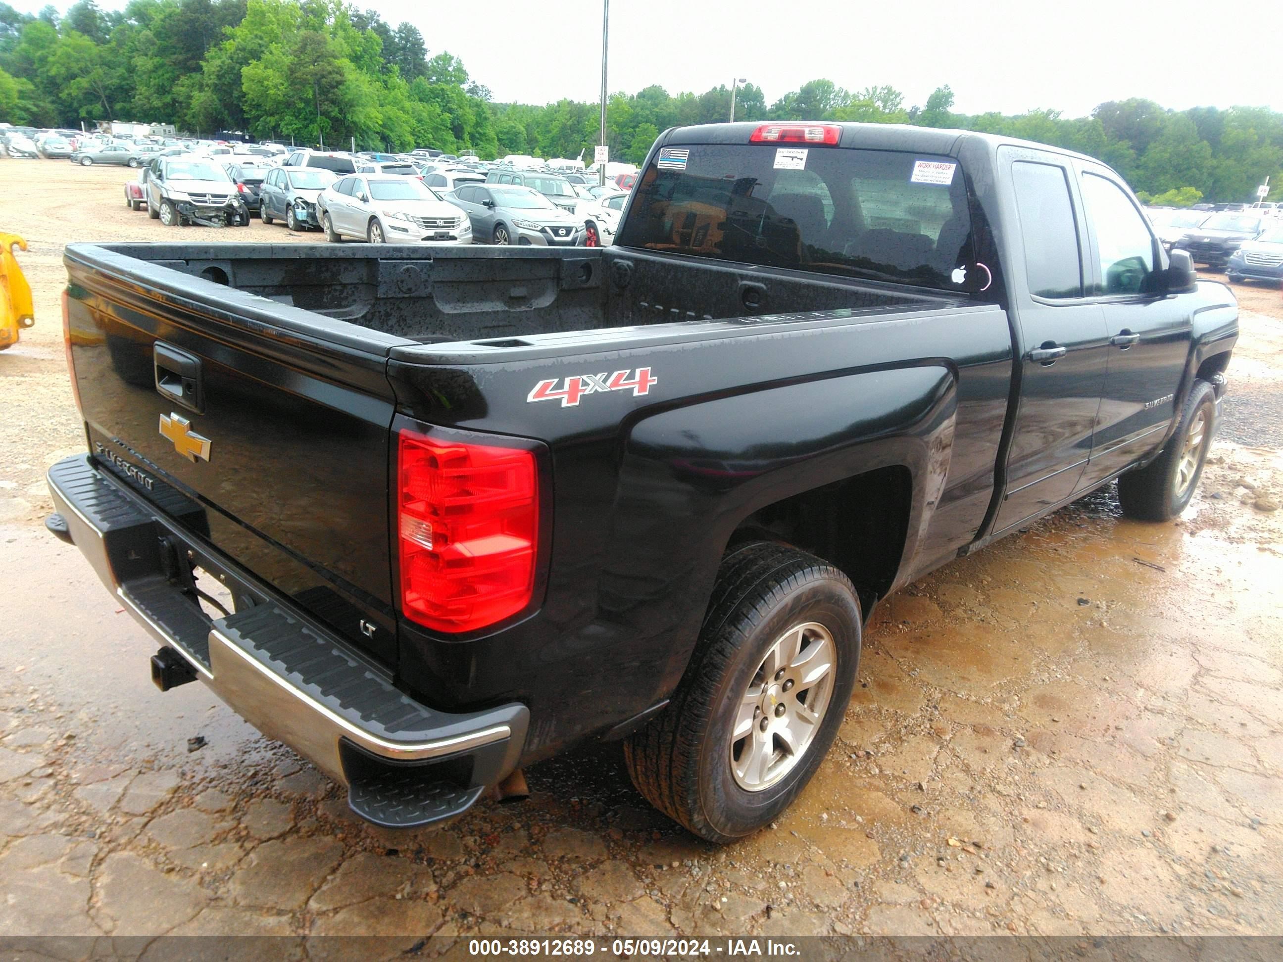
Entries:
POLYGON ((387 339, 508 348, 547 333, 774 314, 783 305, 798 313, 962 303, 896 285, 615 249, 375 250, 332 244, 115 244, 74 245, 68 259, 376 353, 389 346, 387 339), (253 296, 192 285, 190 277, 253 296))

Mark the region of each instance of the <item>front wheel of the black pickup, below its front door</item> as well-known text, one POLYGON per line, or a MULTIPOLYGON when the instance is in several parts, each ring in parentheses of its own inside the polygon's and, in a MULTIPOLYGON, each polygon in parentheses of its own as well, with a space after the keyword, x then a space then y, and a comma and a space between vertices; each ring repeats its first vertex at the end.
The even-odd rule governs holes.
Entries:
POLYGON ((1216 392, 1206 381, 1194 381, 1162 454, 1119 478, 1123 513, 1139 521, 1170 521, 1183 512, 1198 486, 1215 427, 1216 392))

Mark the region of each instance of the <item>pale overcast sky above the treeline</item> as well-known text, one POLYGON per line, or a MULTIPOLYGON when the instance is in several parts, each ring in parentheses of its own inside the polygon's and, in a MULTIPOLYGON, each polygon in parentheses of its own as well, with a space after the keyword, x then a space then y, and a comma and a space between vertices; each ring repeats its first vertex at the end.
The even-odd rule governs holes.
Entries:
MULTIPOLYGON (((99 4, 121 9, 126 0, 99 4)), ((359 5, 393 26, 417 26, 430 54, 462 58, 495 100, 598 99, 602 0, 359 5)), ((747 77, 770 104, 828 77, 848 90, 889 83, 906 105, 948 83, 962 113, 1052 108, 1076 117, 1129 96, 1175 109, 1283 110, 1279 37, 1280 0, 613 0, 609 89, 698 94, 747 77)))

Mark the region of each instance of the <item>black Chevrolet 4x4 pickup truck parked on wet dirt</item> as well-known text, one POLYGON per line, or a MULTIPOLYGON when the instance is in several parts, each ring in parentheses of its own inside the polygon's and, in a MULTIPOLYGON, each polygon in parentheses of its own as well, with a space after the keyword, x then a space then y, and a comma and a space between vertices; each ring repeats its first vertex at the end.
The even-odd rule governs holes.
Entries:
POLYGON ((625 740, 715 841, 802 790, 874 605, 1119 480, 1178 514, 1233 295, 1100 163, 716 124, 615 246, 71 245, 71 540, 390 826, 625 740))

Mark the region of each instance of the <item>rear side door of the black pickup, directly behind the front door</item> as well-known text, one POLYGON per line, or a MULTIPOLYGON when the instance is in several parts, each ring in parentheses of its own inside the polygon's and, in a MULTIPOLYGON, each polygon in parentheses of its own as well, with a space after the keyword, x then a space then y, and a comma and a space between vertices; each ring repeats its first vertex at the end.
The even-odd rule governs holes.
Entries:
POLYGON ((1088 296, 1085 237, 1069 158, 1002 148, 1012 186, 1008 280, 1019 328, 1020 396, 994 531, 1019 525, 1078 489, 1092 453, 1105 385, 1105 313, 1088 296))

